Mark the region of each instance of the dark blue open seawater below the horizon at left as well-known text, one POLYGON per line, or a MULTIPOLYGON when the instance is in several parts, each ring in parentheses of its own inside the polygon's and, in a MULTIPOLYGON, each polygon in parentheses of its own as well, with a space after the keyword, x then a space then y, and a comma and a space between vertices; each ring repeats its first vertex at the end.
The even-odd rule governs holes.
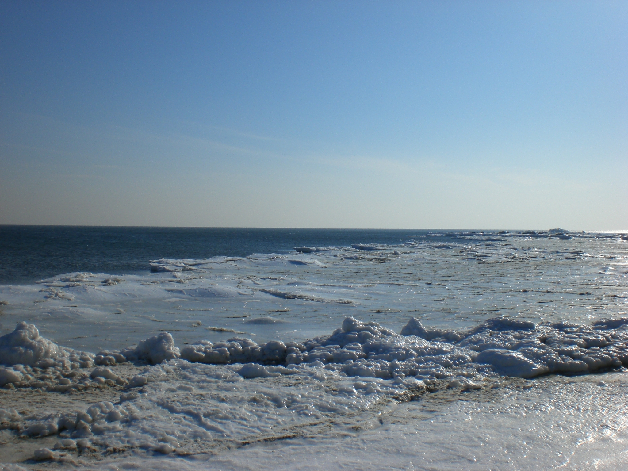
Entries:
POLYGON ((30 284, 73 271, 148 273, 160 258, 286 253, 300 246, 399 244, 413 229, 242 229, 0 225, 0 284, 30 284))

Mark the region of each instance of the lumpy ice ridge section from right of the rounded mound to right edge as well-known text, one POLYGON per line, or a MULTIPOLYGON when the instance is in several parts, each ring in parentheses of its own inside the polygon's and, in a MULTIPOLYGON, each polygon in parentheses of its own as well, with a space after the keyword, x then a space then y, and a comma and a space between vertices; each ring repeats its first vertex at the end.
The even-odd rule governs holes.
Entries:
POLYGON ((376 322, 348 317, 328 337, 261 345, 248 338, 215 344, 202 340, 184 347, 181 358, 207 364, 249 364, 242 370, 245 377, 264 375, 262 365, 318 364, 335 365, 347 376, 381 379, 440 379, 462 369, 478 378, 487 374, 530 378, 628 364, 627 343, 628 318, 587 326, 537 325, 497 317, 463 331, 426 328, 411 318, 399 335, 376 322))

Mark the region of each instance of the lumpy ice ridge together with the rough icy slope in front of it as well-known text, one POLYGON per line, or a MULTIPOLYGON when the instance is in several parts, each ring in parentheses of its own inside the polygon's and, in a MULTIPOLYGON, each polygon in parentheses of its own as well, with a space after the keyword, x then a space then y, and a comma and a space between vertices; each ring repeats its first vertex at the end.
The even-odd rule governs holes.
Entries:
MULTIPOLYGON (((12 349, 23 351, 35 337, 57 357, 66 352, 36 336, 35 326, 20 324, 15 332, 24 330, 30 337, 9 334, 0 342, 8 344, 8 337, 12 349)), ((303 343, 258 345, 233 338, 214 344, 206 340, 181 350, 170 334, 161 333, 117 354, 123 362, 156 364, 129 381, 131 389, 142 389, 124 393, 119 404, 98 403, 85 413, 72 411, 56 418, 44 414, 24 419, 12 411, 4 415, 13 414, 9 425, 24 422, 13 427, 27 435, 65 430, 63 436, 89 438, 93 446, 152 450, 162 443, 176 442, 173 447, 178 448, 185 441, 186 447, 200 452, 202 447, 193 445, 198 438, 212 440, 212 447, 227 447, 252 433, 270 433, 276 426, 302 426, 313 418, 368 409, 384 399, 412 398, 437 380, 450 388, 473 390, 499 384, 502 375, 528 378, 628 364, 628 318, 590 326, 493 318, 458 332, 425 328, 413 318, 403 333, 346 318, 332 335, 303 343), (269 382, 259 383, 262 380, 269 382)), ((114 355, 101 352, 99 357, 106 364, 108 357, 116 360, 114 355)), ((0 377, 19 387, 24 376, 20 369, 24 371, 21 365, 5 368, 0 377)), ((96 367, 90 377, 127 384, 108 367, 96 367)))

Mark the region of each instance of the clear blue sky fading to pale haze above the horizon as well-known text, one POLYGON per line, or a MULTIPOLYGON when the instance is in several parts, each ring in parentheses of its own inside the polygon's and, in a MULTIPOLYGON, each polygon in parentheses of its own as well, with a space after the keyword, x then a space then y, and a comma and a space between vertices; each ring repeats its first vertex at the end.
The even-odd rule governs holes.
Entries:
POLYGON ((628 230, 624 1, 0 2, 0 224, 628 230))

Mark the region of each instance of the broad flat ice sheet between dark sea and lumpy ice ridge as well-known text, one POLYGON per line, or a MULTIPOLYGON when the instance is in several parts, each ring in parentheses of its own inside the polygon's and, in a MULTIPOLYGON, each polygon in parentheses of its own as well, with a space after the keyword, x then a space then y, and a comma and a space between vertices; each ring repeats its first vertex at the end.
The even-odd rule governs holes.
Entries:
MULTIPOLYGON (((628 295, 624 241, 617 234, 560 228, 545 234, 448 232, 399 244, 356 244, 361 248, 160 259, 153 261, 150 274, 70 273, 30 286, 0 286, 0 301, 10 303, 0 308, 54 332, 62 345, 94 352, 138 343, 153 332, 155 322, 176 342, 228 338, 194 333, 190 325, 197 320, 215 326, 215 333, 248 328, 252 338, 264 341, 303 341, 329 332, 329 323, 337 325, 349 316, 381 322, 381 316, 369 313, 387 313, 386 322, 397 332, 411 312, 442 328, 453 320, 457 328, 469 327, 498 313, 580 323, 592 315, 625 315, 625 301, 608 295, 628 295), (573 241, 554 237, 563 233, 573 241), (376 250, 364 250, 366 246, 376 250), (540 273, 548 276, 536 276, 540 273), (586 302, 578 296, 587 296, 586 302), (290 308, 290 313, 276 314, 278 308, 290 308), (246 319, 260 317, 288 323, 283 332, 270 324, 246 324, 246 319), (97 334, 90 332, 95 320, 107 330, 110 344, 102 336, 85 343, 97 334), (128 333, 127 323, 134 325, 128 333)), ((14 325, 3 326, 8 327, 14 325)))

